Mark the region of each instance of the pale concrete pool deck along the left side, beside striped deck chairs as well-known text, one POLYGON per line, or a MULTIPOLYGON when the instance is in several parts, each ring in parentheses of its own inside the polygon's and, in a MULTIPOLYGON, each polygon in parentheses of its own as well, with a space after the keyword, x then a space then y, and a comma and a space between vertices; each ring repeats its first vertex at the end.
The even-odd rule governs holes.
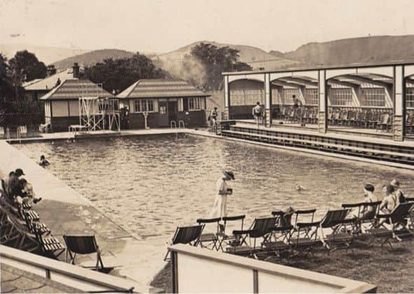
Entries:
MULTIPOLYGON (((0 175, 23 169, 25 179, 34 186, 42 201, 34 206, 41 221, 52 230, 62 244, 62 235, 95 235, 102 248, 104 265, 116 265, 113 274, 137 281, 136 290, 149 292, 149 283, 163 267, 166 247, 159 240, 140 240, 107 218, 76 190, 18 151, 0 141, 0 175), (158 244, 162 244, 161 246, 158 244)), ((95 256, 79 258, 78 262, 92 262, 95 256)))

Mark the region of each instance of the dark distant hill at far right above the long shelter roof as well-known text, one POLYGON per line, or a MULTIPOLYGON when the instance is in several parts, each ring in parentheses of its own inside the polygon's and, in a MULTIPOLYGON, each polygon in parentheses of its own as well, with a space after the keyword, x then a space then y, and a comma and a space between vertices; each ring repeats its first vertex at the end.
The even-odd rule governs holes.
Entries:
POLYGON ((275 57, 312 65, 359 64, 414 60, 414 35, 345 38, 324 43, 308 43, 275 57))

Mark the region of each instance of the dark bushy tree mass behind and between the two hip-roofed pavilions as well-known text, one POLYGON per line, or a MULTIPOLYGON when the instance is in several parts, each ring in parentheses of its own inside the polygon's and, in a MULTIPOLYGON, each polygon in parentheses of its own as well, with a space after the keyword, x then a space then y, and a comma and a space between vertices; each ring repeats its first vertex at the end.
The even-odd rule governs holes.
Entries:
POLYGON ((102 83, 109 92, 120 92, 142 78, 165 78, 167 72, 137 52, 130 58, 104 59, 104 62, 86 67, 84 76, 94 83, 102 83))

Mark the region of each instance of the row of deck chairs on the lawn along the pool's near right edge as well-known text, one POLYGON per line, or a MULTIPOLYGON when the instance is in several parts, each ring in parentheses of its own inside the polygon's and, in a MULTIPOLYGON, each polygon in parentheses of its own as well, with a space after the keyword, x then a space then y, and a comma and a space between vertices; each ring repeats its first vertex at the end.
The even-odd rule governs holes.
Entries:
POLYGON ((342 209, 327 211, 319 221, 314 219, 316 209, 289 214, 272 211, 271 216, 256 218, 247 230, 243 228, 245 216, 230 216, 223 218, 225 228, 229 222, 240 221, 240 230, 233 230, 231 235, 219 230, 220 218, 199 219, 198 225, 177 228, 172 244, 191 244, 253 258, 308 255, 317 247, 325 248, 328 253, 340 248, 352 250, 354 241, 364 237, 368 239, 366 245, 382 240, 381 246, 392 246, 392 239, 402 241, 414 236, 414 199, 408 200, 390 214, 379 213, 380 202, 343 204, 342 209), (372 217, 361 217, 361 211, 370 206, 375 211, 372 217), (357 216, 350 214, 351 211, 357 216), (216 230, 204 232, 206 225, 212 224, 216 230))

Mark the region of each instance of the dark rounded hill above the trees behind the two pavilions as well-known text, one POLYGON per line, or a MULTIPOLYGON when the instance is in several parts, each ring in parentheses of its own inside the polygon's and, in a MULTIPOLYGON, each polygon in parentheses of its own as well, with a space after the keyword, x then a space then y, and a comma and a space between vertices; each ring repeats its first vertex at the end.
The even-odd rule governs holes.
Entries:
POLYGON ((67 69, 68 67, 71 67, 74 62, 78 62, 80 66, 92 66, 98 62, 102 62, 107 58, 129 58, 132 57, 132 55, 134 55, 133 52, 119 49, 93 50, 90 52, 85 52, 81 55, 67 57, 58 62, 55 62, 54 64, 57 69, 67 69))

